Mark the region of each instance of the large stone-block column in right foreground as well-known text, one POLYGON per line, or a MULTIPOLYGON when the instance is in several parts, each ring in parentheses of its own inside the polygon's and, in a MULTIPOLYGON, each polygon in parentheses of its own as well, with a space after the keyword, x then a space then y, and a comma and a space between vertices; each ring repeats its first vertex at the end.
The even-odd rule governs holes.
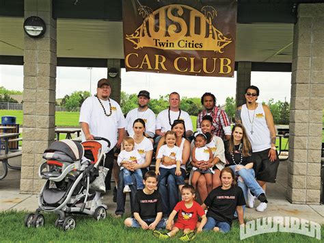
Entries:
POLYGON ((324 105, 324 3, 299 4, 294 27, 288 201, 319 204, 324 105))

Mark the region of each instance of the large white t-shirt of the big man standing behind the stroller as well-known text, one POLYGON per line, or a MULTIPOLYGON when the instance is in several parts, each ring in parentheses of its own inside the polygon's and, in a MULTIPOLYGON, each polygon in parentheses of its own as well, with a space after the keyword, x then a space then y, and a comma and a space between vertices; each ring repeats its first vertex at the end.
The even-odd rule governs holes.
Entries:
MULTIPOLYGON (((100 100, 105 107, 106 114, 109 114, 109 101, 100 100)), ((79 123, 87 123, 89 125, 90 134, 93 136, 107 138, 111 146, 107 148, 107 142, 100 140, 103 149, 106 148, 106 153, 111 151, 117 143, 118 129, 124 128, 125 118, 120 109, 120 105, 116 101, 110 99, 111 102, 111 116, 105 116, 103 107, 101 107, 98 99, 94 96, 88 97, 81 105, 79 123)), ((82 142, 85 141, 85 136, 82 131, 82 142)))

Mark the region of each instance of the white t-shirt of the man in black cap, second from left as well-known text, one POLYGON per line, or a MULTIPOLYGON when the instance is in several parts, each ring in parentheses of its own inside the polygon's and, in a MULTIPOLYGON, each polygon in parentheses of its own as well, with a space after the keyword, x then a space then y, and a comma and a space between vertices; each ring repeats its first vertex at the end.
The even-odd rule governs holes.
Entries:
POLYGON ((138 108, 135 108, 126 116, 126 131, 129 133, 129 136, 134 135, 133 123, 137 118, 141 118, 145 122, 145 132, 151 137, 154 138, 155 135, 155 114, 148 108, 145 112, 139 112, 138 108))

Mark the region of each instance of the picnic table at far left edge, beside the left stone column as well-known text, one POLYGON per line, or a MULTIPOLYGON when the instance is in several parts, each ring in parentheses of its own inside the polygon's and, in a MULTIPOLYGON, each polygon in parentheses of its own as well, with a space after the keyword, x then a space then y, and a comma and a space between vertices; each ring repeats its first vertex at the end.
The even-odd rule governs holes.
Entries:
POLYGON ((3 166, 3 174, 0 175, 0 180, 6 177, 6 175, 8 174, 8 168, 14 170, 21 170, 21 167, 11 166, 8 163, 8 159, 22 155, 22 151, 15 151, 9 153, 9 140, 10 138, 16 138, 17 136, 19 136, 19 133, 0 133, 0 139, 3 139, 5 141, 4 153, 0 153, 0 161, 2 162, 2 166, 3 166))

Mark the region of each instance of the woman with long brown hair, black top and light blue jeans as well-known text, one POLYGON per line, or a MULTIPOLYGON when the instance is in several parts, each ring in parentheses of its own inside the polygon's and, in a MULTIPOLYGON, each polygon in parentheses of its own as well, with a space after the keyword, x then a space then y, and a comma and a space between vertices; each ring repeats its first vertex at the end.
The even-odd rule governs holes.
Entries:
POLYGON ((252 195, 255 195, 261 203, 267 203, 265 191, 255 179, 253 169, 252 149, 249 139, 247 138, 243 125, 237 124, 232 128, 230 140, 226 142, 226 166, 229 166, 234 174, 239 177, 237 184, 242 188, 247 207, 250 207, 250 202, 247 197, 247 191, 250 190, 252 195))

